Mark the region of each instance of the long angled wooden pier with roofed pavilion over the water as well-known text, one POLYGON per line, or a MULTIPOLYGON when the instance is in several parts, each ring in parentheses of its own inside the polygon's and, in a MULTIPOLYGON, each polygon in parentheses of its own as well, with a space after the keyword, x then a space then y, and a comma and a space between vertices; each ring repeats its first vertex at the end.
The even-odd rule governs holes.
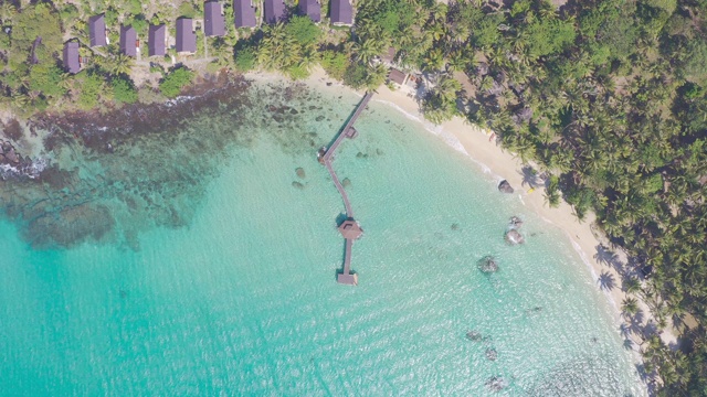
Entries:
POLYGON ((359 238, 361 234, 363 234, 363 230, 359 226, 358 222, 356 222, 356 219, 354 218, 351 202, 349 201, 349 196, 346 194, 346 191, 344 190, 344 185, 341 185, 339 178, 336 175, 336 172, 334 172, 334 169, 331 168, 331 161, 334 160, 334 154, 336 153, 336 150, 338 149, 341 141, 344 141, 345 138, 356 138, 356 136, 358 135, 358 131, 356 131, 356 129, 354 128, 354 124, 361 115, 363 109, 366 109, 366 106, 372 97, 373 93, 366 93, 366 96, 358 104, 356 110, 354 111, 354 115, 351 115, 346 126, 344 126, 341 132, 339 132, 338 137, 336 137, 334 143, 331 143, 331 146, 329 146, 329 148, 327 148, 324 152, 319 152, 319 162, 321 162, 324 167, 327 168, 327 171, 329 171, 329 175, 331 175, 334 185, 339 191, 341 200, 344 200, 344 207, 346 208, 346 221, 344 221, 339 226, 339 232, 346 239, 346 251, 344 254, 344 271, 337 275, 337 282, 350 286, 358 285, 358 275, 351 273, 351 248, 354 247, 354 240, 359 238))

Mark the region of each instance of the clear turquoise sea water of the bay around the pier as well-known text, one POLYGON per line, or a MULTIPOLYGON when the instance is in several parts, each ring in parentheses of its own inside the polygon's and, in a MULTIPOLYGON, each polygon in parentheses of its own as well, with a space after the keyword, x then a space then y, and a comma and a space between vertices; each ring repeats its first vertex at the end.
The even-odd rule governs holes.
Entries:
MULTIPOLYGON (((2 395, 645 394, 570 243, 383 104, 334 163, 365 230, 359 286, 337 285, 342 203, 313 154, 357 97, 321 89, 291 98, 315 104, 291 119, 224 107, 184 126, 192 139, 239 138, 198 167, 162 146, 154 163, 200 176, 152 185, 152 164, 135 196, 95 193, 113 221, 81 243, 32 248, 27 221, 1 222, 2 395), (125 204, 146 191, 162 204, 125 204), (151 219, 168 207, 179 222, 151 219), (503 240, 511 215, 526 221, 524 246, 503 240), (492 276, 476 268, 486 255, 498 259, 492 276)), ((65 161, 103 180, 128 158, 65 161)))

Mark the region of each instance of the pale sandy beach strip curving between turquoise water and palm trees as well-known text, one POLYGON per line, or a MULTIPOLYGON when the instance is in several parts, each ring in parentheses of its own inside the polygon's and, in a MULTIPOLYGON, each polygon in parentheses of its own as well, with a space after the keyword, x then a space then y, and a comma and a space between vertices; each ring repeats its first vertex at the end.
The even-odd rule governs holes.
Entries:
MULTIPOLYGON (((273 78, 287 78, 286 76, 268 72, 249 73, 245 77, 258 82, 272 81, 273 78)), ((330 78, 326 72, 319 67, 315 68, 313 74, 302 83, 315 87, 321 84, 346 87, 342 83, 330 78)), ((350 87, 346 88, 354 90, 350 87)), ((360 96, 363 96, 365 93, 362 90, 355 92, 360 96)), ((532 211, 546 223, 559 228, 571 244, 579 259, 581 259, 587 266, 591 277, 597 281, 595 288, 608 300, 612 308, 611 312, 608 314, 611 315, 611 319, 616 326, 616 332, 620 332, 620 325, 625 323, 621 312, 621 304, 627 294, 622 290, 621 281, 623 278, 619 271, 609 264, 600 262, 598 259, 598 248, 602 245, 602 242, 600 242, 592 230, 591 225, 597 219, 593 212, 588 212, 585 219, 579 222, 573 215, 572 207, 564 201, 560 201, 560 205, 556 208, 551 208, 546 205, 542 183, 535 184, 535 190, 531 190, 532 186, 524 183, 524 173, 521 168, 524 165, 531 164, 524 164, 519 157, 503 149, 499 144, 496 144, 493 140, 493 131, 471 125, 460 117, 454 117, 452 120, 445 121, 441 125, 433 125, 424 119, 424 116, 413 97, 402 90, 391 90, 384 85, 377 89, 377 95, 372 100, 390 106, 397 111, 402 112, 409 119, 419 122, 428 132, 433 133, 439 139, 442 139, 453 150, 465 154, 476 167, 479 168, 479 171, 485 174, 490 174, 497 183, 502 180, 507 180, 516 190, 514 194, 525 207, 532 211), (609 278, 613 279, 614 287, 611 289, 601 288, 599 282, 601 275, 604 275, 604 277, 605 275, 609 275, 609 278)), ((623 251, 618 250, 615 251, 615 255, 622 262, 626 261, 623 251)), ((644 324, 648 322, 655 323, 654 316, 648 307, 640 297, 635 298, 639 301, 641 310, 645 314, 644 324)), ((637 346, 641 341, 636 341, 636 337, 633 335, 622 335, 622 337, 634 342, 632 351, 634 352, 636 360, 642 362, 642 356, 637 346)), ((677 336, 672 329, 663 330, 661 337, 668 345, 677 343, 677 336)))

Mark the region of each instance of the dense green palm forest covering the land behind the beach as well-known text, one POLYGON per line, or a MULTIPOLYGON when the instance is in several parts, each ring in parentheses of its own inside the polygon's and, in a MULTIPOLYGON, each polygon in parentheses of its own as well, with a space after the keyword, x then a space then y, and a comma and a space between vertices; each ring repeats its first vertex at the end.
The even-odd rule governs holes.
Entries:
POLYGON ((374 89, 387 75, 377 60, 393 46, 398 67, 433 83, 420 98, 431 121, 463 117, 494 130, 549 175, 548 205, 564 200, 579 221, 597 214, 598 230, 631 258, 621 269, 626 322, 639 315, 636 299, 658 322, 653 332, 622 330, 641 341, 647 380, 664 396, 707 395, 707 0, 358 0, 352 29, 315 24, 291 3, 287 22, 253 31, 233 29, 226 2, 231 29, 207 42, 205 66, 135 65, 108 46, 81 73, 63 72, 61 37, 85 37, 92 12, 139 24, 201 11, 154 4, 3 2, 0 106, 31 117, 161 100, 220 68, 299 79, 320 65, 374 89), (157 79, 136 84, 135 71, 148 67, 157 79), (678 346, 658 335, 668 325, 678 346))

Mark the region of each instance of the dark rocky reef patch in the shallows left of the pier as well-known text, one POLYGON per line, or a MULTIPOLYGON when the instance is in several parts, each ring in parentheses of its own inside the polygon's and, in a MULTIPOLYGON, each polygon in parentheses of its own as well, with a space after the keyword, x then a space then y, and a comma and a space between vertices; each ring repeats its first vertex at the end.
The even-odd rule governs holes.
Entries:
POLYGON ((191 222, 232 148, 263 132, 293 154, 320 144, 300 111, 319 99, 304 85, 222 74, 167 104, 43 115, 32 127, 49 131, 44 149, 56 160, 33 180, 0 182, 0 206, 34 248, 139 249, 139 233, 191 222))

